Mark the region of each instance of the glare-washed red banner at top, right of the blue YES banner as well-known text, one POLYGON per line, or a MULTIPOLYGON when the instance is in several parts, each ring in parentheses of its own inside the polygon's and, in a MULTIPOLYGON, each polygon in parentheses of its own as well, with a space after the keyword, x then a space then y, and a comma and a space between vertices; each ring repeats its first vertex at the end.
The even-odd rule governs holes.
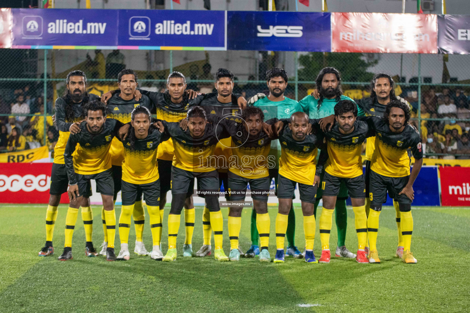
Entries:
POLYGON ((437 15, 331 13, 331 51, 437 53, 437 15))

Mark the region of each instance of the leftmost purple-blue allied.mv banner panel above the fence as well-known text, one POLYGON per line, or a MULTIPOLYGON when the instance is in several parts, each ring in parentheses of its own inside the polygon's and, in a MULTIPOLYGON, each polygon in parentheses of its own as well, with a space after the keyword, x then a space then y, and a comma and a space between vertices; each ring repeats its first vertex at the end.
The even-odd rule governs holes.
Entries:
POLYGON ((117 46, 118 10, 11 9, 13 46, 117 46))

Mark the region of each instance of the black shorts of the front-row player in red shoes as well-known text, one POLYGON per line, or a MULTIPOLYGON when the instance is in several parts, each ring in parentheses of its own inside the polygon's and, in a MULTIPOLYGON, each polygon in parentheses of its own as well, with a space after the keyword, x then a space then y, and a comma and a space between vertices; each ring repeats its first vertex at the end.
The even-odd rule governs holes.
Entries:
POLYGON ((325 172, 321 189, 323 196, 337 196, 341 182, 345 182, 349 196, 351 198, 366 198, 366 186, 364 184, 364 175, 357 177, 343 178, 328 174, 325 172))

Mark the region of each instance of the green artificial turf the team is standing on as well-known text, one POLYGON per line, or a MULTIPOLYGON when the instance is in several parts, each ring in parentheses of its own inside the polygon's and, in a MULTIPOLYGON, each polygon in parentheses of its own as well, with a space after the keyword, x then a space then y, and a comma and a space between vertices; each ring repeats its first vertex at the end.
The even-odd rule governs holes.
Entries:
MULTIPOLYGON (((73 236, 73 260, 61 262, 67 206, 59 207, 55 223, 55 254, 38 257, 45 241, 47 206, 0 205, 0 312, 468 312, 470 308, 470 210, 422 207, 413 209, 415 227, 412 252, 417 264, 395 258, 395 211, 384 207, 380 215, 377 249, 381 264, 358 264, 333 257, 330 264, 307 264, 286 258, 283 264, 258 259, 217 262, 182 258, 161 262, 133 254, 131 260, 107 262, 86 258, 83 222, 78 216, 73 236)), ((94 245, 102 243, 101 207, 94 210, 94 245)), ((163 246, 167 249, 165 210, 163 246)), ((120 206, 116 206, 117 218, 120 206)), ((224 215, 224 250, 229 253, 227 209, 224 215)), ((269 250, 275 254, 275 217, 270 207, 269 250)), ((317 215, 314 252, 320 257, 317 215)), ((202 208, 196 208, 193 250, 202 244, 202 208)), ((240 244, 247 250, 251 210, 242 214, 240 244)), ((346 246, 357 249, 351 209, 348 209, 346 246)), ((296 244, 303 251, 302 213, 296 208, 296 244)), ((178 236, 182 254, 184 223, 178 236)), ((330 249, 336 249, 333 222, 330 249)), ((151 249, 149 221, 144 242, 151 249)), ((212 241, 213 242, 213 241, 212 241)), ((118 231, 116 254, 119 251, 118 231)))

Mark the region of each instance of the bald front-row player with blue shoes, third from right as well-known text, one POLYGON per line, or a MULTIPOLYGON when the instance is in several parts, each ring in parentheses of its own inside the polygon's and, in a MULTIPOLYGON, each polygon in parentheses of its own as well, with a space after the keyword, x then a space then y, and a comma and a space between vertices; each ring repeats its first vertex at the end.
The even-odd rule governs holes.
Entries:
MULTIPOLYGON (((319 132, 307 135, 309 122, 308 115, 296 112, 290 116, 289 124, 283 126, 279 135, 281 144, 279 178, 277 180, 279 213, 276 217, 277 251, 274 263, 284 262, 284 237, 297 184, 304 214, 305 262, 318 263, 313 254, 313 240, 315 238, 313 206, 322 169, 322 162, 319 162, 315 170, 315 159, 318 153, 317 146, 323 143, 323 137, 321 134, 317 136, 319 132)), ((316 121, 312 120, 312 122, 316 121)))

